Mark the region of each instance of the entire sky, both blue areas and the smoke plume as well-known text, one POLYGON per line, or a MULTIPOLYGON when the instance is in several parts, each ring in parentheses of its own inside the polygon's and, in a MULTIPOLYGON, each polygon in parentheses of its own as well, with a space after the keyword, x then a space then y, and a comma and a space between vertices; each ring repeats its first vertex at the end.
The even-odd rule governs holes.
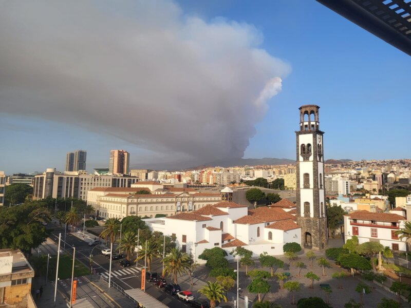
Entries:
POLYGON ((0 170, 295 159, 320 106, 325 159, 409 158, 408 55, 316 1, 0 0, 0 170))

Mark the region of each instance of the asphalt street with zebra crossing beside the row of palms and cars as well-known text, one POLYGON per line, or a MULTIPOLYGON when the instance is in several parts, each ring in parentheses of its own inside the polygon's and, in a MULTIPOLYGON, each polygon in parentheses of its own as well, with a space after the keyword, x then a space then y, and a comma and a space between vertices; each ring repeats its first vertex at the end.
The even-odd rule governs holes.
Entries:
MULTIPOLYGON (((61 241, 61 248, 64 248, 64 229, 56 229, 50 235, 50 239, 55 242, 56 245, 59 243, 59 233, 62 233, 62 241, 61 241)), ((93 260, 93 268, 96 269, 97 273, 105 273, 109 270, 110 259, 109 257, 104 256, 101 253, 102 249, 107 248, 104 244, 98 246, 88 246, 88 243, 73 236, 69 233, 66 234, 66 250, 69 253, 72 253, 72 246, 76 247, 76 259, 82 261, 85 265, 89 266, 89 256, 92 251, 92 260, 93 260)), ((108 247, 109 248, 109 247, 108 247)), ((57 249, 53 249, 51 247, 45 247, 43 245, 43 249, 46 249, 50 254, 56 254, 57 249)), ((135 259, 135 257, 133 258, 135 259)), ((111 271, 116 272, 118 270, 122 270, 123 267, 119 264, 120 260, 113 260, 111 263, 111 271)), ((139 261, 139 267, 143 266, 143 261, 139 261)), ((129 268, 129 267, 127 267, 129 268)), ((151 271, 161 273, 162 264, 159 261, 153 262, 151 264, 151 271)), ((122 275, 115 277, 114 275, 111 276, 111 280, 117 283, 119 286, 124 288, 124 290, 129 290, 132 288, 140 288, 141 287, 141 272, 122 275)), ((154 286, 152 283, 146 282, 145 287, 146 293, 150 294, 157 300, 161 301, 165 305, 171 308, 182 308, 190 306, 187 303, 184 303, 177 299, 176 296, 171 296, 168 293, 163 291, 163 288, 159 289, 154 286)))

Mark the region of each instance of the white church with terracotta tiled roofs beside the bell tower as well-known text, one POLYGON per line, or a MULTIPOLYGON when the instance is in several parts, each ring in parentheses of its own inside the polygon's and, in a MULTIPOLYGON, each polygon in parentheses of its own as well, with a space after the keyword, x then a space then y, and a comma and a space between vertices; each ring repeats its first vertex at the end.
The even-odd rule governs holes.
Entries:
POLYGON ((228 259, 234 258, 230 253, 236 247, 249 249, 253 257, 264 252, 282 255, 284 243, 301 244, 301 227, 294 219, 281 208, 264 206, 249 210, 246 205, 221 201, 145 222, 153 231, 175 236, 177 247, 192 252, 194 260, 204 263, 198 256, 213 247, 224 249, 228 259))

